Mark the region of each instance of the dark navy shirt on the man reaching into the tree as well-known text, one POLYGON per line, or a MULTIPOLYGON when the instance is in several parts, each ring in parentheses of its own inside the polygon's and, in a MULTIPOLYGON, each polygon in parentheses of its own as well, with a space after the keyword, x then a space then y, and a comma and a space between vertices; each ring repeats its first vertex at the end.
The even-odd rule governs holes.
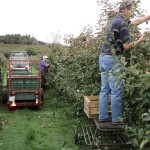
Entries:
POLYGON ((110 21, 101 53, 112 55, 113 53, 120 54, 123 52, 122 44, 130 41, 129 23, 130 21, 125 21, 120 15, 115 16, 110 21))

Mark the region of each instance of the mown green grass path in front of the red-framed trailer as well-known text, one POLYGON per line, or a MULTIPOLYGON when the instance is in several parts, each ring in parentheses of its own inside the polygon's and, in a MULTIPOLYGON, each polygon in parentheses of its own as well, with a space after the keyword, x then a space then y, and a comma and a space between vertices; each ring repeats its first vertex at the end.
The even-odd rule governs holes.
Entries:
POLYGON ((53 91, 45 93, 41 110, 0 107, 0 150, 78 150, 73 141, 80 119, 53 91))

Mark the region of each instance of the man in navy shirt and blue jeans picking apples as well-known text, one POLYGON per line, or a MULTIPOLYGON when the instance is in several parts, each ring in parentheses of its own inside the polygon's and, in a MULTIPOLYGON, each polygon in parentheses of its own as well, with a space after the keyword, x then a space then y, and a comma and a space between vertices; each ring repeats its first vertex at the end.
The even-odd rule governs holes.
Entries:
POLYGON ((108 25, 107 34, 101 48, 99 67, 101 72, 101 91, 99 100, 99 121, 108 121, 108 96, 111 94, 112 124, 122 122, 122 80, 118 77, 122 67, 120 55, 134 45, 142 42, 145 35, 138 40, 131 41, 129 25, 139 25, 150 19, 150 16, 129 20, 133 15, 132 4, 128 1, 120 3, 119 13, 108 25))

